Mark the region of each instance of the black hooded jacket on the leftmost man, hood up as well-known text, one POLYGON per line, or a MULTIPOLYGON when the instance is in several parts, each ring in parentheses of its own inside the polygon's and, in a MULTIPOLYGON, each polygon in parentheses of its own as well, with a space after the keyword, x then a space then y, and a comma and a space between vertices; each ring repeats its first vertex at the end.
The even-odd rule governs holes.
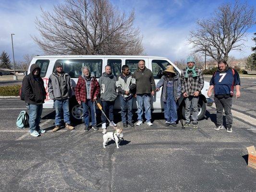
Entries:
POLYGON ((30 73, 24 76, 22 81, 22 91, 25 96, 25 103, 39 105, 43 104, 46 99, 44 81, 40 77, 41 69, 37 64, 32 64, 30 73), (33 75, 34 69, 39 69, 38 77, 33 75))

